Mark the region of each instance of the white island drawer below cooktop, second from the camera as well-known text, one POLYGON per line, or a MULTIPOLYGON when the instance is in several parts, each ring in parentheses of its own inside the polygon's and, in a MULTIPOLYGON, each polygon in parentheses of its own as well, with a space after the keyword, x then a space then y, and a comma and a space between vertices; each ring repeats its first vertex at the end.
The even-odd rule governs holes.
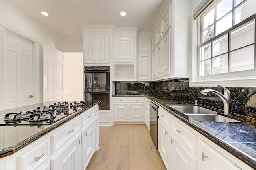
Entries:
POLYGON ((62 144, 64 144, 75 132, 80 130, 81 119, 80 117, 74 118, 73 120, 62 125, 59 130, 50 135, 50 146, 51 154, 54 153, 62 144))

